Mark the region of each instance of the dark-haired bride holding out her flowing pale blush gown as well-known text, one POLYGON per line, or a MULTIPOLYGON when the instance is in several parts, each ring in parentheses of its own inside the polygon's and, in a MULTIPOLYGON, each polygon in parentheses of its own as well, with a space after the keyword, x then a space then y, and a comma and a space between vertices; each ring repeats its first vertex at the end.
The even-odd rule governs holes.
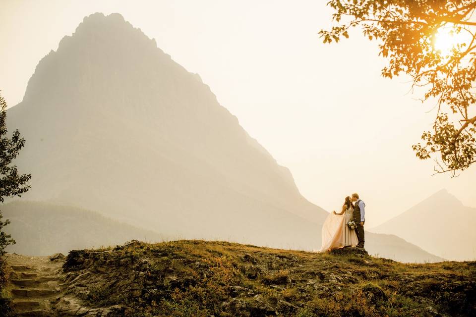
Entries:
POLYGON ((322 225, 322 247, 318 252, 327 252, 348 246, 356 246, 358 243, 355 230, 351 230, 347 223, 352 221, 354 205, 350 196, 342 206, 342 211, 333 211, 322 225))

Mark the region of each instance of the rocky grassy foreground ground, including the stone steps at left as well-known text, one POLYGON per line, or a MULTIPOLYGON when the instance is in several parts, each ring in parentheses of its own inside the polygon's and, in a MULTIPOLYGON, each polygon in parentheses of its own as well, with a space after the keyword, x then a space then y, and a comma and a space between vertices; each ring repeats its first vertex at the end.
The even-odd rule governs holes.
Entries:
POLYGON ((9 255, 18 316, 476 316, 476 263, 401 264, 228 242, 9 255))

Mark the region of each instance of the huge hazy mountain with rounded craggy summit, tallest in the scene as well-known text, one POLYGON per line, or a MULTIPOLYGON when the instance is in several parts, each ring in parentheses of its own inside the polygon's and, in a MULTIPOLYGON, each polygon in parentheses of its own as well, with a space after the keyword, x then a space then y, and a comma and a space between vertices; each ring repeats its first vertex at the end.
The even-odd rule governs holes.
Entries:
MULTIPOLYGON (((16 162, 32 174, 25 199, 166 236, 320 247, 328 213, 197 74, 120 14, 92 14, 64 37, 7 123, 27 140, 16 162)), ((409 255, 426 258, 418 248, 409 255)))

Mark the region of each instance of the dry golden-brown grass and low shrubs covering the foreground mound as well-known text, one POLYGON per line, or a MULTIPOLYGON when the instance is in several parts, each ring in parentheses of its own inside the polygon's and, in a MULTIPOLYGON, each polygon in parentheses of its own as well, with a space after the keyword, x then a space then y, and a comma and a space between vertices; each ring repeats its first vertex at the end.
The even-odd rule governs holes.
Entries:
POLYGON ((94 250, 97 261, 127 258, 131 270, 152 263, 139 298, 123 297, 125 277, 116 277, 117 289, 95 286, 91 304, 121 303, 125 316, 273 316, 283 301, 293 305, 285 316, 299 317, 429 317, 428 306, 462 317, 476 307, 475 263, 402 264, 201 240, 107 250, 94 250), (168 275, 177 280, 165 283, 168 275))

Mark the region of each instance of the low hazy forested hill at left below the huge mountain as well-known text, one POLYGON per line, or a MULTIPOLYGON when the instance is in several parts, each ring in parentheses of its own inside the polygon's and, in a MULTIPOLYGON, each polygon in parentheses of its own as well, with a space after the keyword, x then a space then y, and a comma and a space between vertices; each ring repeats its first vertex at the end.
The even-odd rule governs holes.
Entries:
POLYGON ((67 254, 69 250, 114 246, 131 239, 165 240, 153 231, 70 206, 16 201, 1 206, 1 211, 11 220, 5 231, 16 240, 16 244, 6 249, 10 253, 67 254))

